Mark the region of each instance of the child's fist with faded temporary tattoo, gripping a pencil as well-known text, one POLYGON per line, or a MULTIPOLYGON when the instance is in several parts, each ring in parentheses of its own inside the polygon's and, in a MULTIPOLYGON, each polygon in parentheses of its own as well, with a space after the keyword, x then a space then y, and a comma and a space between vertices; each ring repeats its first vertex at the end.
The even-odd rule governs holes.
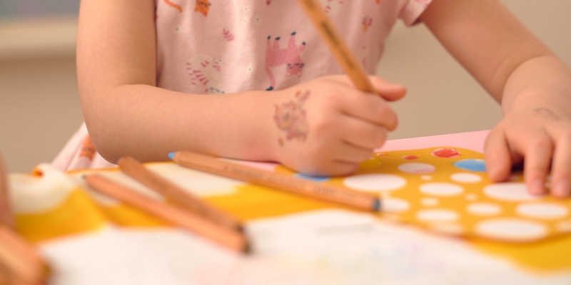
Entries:
POLYGON ((383 145, 397 117, 387 101, 403 86, 370 77, 378 94, 363 93, 347 76, 327 76, 281 90, 276 103, 276 149, 283 165, 309 175, 353 172, 383 145))

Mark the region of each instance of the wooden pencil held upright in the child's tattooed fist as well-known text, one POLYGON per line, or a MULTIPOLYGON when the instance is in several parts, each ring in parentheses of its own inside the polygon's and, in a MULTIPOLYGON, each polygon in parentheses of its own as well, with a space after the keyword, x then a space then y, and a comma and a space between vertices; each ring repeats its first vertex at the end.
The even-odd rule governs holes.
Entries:
POLYGON ((347 73, 355 88, 364 91, 375 93, 375 88, 370 83, 367 73, 363 66, 355 59, 353 53, 350 52, 347 44, 343 41, 337 28, 330 21, 323 7, 317 0, 299 0, 300 4, 305 9, 305 13, 313 22, 315 28, 325 40, 325 43, 331 48, 333 55, 340 63, 341 67, 347 73))

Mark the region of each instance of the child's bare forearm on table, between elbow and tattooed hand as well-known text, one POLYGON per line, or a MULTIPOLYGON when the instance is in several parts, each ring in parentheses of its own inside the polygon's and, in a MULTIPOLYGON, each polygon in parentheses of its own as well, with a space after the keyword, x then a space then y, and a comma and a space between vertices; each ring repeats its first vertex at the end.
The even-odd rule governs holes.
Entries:
POLYGON ((98 152, 110 162, 125 155, 167 160, 175 150, 273 160, 277 96, 263 91, 191 95, 146 85, 118 86, 105 100, 84 100, 84 115, 98 152))

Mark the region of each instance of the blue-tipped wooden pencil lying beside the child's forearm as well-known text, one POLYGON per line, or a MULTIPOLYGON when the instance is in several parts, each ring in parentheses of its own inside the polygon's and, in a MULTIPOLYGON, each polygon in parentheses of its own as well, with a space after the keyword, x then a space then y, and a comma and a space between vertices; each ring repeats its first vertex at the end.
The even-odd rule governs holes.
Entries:
POLYGON ((226 160, 219 160, 210 155, 203 155, 188 150, 171 152, 169 157, 179 165, 195 170, 294 192, 308 197, 323 199, 328 202, 358 207, 368 211, 378 211, 380 208, 379 197, 370 193, 358 192, 333 185, 324 185, 291 175, 262 170, 226 160))

